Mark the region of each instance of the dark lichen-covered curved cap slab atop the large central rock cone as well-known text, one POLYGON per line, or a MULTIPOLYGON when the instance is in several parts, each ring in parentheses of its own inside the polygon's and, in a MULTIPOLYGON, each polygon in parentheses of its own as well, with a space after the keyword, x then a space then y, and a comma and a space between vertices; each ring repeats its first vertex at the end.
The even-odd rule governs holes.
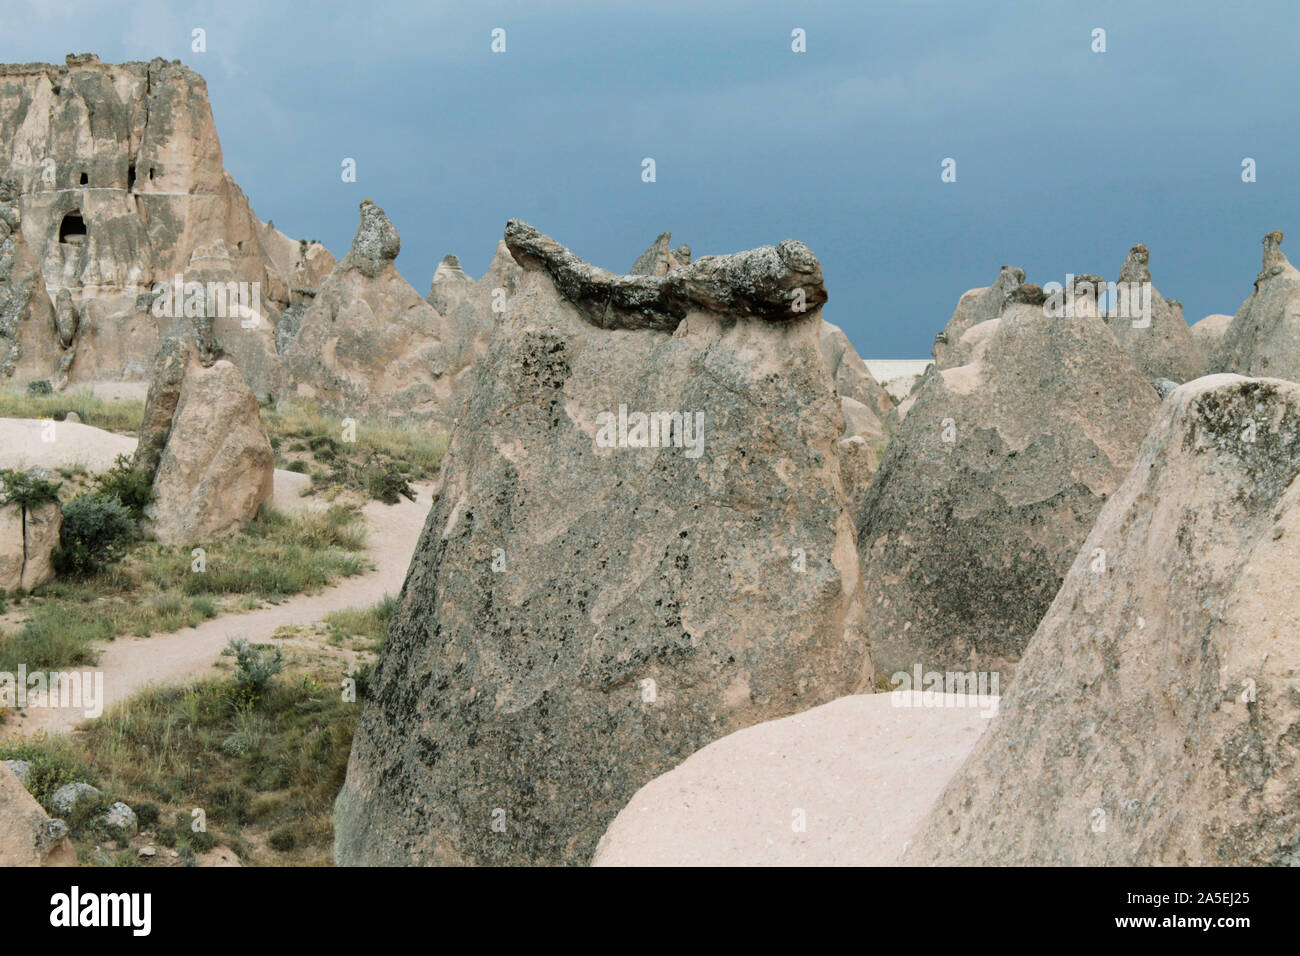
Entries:
POLYGON ((725 256, 703 256, 667 276, 615 276, 512 219, 506 245, 525 269, 540 268, 582 316, 602 329, 672 332, 688 311, 793 321, 827 299, 822 264, 797 239, 725 256))

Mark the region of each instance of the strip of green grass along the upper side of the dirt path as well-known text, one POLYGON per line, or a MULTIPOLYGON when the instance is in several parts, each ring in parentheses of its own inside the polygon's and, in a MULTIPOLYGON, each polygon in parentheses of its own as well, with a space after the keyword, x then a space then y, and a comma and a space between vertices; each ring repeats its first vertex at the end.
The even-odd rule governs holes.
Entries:
POLYGON ((282 601, 369 570, 356 509, 285 514, 264 509, 243 535, 207 549, 192 570, 190 549, 144 544, 121 564, 90 578, 60 578, 35 593, 17 632, 0 636, 0 670, 88 665, 95 645, 118 635, 194 627, 248 598, 282 601), (224 604, 218 604, 225 598, 224 604))

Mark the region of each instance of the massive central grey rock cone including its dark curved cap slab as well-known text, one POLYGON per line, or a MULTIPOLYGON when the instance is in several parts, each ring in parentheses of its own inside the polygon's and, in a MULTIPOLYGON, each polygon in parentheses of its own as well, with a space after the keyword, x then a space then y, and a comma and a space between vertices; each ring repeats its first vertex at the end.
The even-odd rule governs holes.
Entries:
POLYGON ((585 864, 688 754, 871 682, 816 258, 612 276, 506 241, 524 273, 361 713, 342 864, 585 864))

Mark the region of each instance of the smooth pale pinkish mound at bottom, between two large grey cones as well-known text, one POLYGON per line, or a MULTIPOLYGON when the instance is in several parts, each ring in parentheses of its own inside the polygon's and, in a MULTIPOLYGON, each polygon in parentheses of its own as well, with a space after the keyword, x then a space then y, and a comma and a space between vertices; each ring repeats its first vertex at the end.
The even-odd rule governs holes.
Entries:
POLYGON ((715 740, 637 791, 593 865, 896 864, 991 721, 987 698, 893 697, 841 697, 715 740))

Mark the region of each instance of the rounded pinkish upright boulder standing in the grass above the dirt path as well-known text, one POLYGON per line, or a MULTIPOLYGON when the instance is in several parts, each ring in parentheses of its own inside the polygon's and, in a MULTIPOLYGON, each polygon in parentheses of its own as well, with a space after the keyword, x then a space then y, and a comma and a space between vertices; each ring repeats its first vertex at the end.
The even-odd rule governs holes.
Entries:
MULTIPOLYGON (((161 376, 174 375, 177 358, 160 364, 161 376)), ((155 384, 146 429, 161 420, 172 401, 170 378, 155 384)), ((152 454, 159 433, 142 429, 136 467, 147 467, 139 455, 152 454)), ((153 476, 146 528, 169 545, 207 544, 240 531, 270 501, 274 462, 257 399, 239 369, 225 359, 208 367, 190 360, 153 476)))

